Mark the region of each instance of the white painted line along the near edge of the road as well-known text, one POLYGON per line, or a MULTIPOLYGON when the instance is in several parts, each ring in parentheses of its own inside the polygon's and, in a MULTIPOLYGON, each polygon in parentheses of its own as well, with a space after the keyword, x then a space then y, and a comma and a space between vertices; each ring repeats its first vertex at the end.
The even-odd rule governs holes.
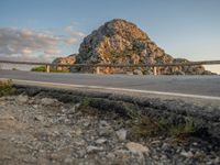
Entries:
MULTIPOLYGON (((0 78, 6 79, 6 78, 0 78)), ((173 97, 185 97, 185 98, 197 98, 197 99, 209 99, 209 100, 220 100, 220 97, 212 96, 200 96, 200 95, 190 95, 190 94, 179 94, 179 92, 165 92, 165 91, 154 91, 154 90, 140 90, 140 89, 128 89, 128 88, 114 88, 114 87, 105 87, 105 86, 88 86, 88 85, 69 85, 69 84, 61 84, 61 82, 47 82, 47 81, 34 81, 34 80, 22 80, 22 79, 12 79, 14 84, 25 85, 48 85, 51 87, 74 87, 74 88, 87 88, 87 89, 105 89, 112 91, 129 91, 129 92, 140 92, 140 94, 152 94, 152 95, 163 95, 163 96, 173 96, 173 97)))

